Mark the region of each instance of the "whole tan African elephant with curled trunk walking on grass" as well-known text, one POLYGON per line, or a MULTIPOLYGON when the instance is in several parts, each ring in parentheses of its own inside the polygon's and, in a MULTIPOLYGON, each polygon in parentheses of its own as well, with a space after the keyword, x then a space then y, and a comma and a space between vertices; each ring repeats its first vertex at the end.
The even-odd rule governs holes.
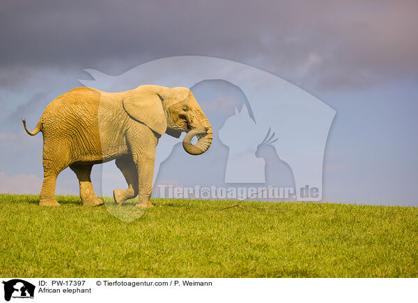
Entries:
POLYGON ((44 179, 42 206, 59 206, 55 185, 58 174, 70 167, 79 180, 83 205, 102 204, 91 184, 94 164, 116 160, 128 188, 114 190, 116 204, 138 196, 136 206, 152 207, 155 147, 159 138, 183 139, 188 154, 199 155, 212 143, 212 127, 188 88, 140 85, 123 92, 75 88, 54 99, 42 113, 36 128, 42 132, 44 179), (195 145, 192 138, 198 138, 195 145))

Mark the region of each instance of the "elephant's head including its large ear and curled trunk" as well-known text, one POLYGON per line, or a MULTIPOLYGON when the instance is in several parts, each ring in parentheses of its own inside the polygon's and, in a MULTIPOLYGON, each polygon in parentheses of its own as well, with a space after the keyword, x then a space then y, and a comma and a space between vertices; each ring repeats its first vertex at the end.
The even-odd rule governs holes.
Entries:
POLYGON ((160 135, 179 138, 186 132, 183 147, 189 154, 203 154, 212 143, 209 120, 188 88, 141 85, 123 99, 123 108, 160 135), (194 136, 198 141, 192 145, 194 136))

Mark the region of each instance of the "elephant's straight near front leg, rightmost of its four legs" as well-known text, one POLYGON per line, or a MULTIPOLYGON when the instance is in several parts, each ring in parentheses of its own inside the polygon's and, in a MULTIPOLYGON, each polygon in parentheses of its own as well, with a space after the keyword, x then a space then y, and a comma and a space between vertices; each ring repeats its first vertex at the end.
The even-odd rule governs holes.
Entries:
POLYGON ((137 154, 134 156, 134 162, 137 165, 139 183, 136 206, 154 207, 150 203, 150 197, 153 191, 155 154, 137 154))

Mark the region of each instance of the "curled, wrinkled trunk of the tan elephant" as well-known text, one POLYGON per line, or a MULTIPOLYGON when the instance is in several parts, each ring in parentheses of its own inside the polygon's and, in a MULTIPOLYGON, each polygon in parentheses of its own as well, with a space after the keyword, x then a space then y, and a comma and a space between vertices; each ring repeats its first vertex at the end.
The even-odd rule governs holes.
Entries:
POLYGON ((208 150, 212 144, 212 126, 206 119, 201 124, 197 124, 196 128, 192 129, 187 133, 183 139, 183 148, 191 155, 200 155, 208 150), (192 138, 197 136, 198 141, 195 145, 192 145, 192 138))

